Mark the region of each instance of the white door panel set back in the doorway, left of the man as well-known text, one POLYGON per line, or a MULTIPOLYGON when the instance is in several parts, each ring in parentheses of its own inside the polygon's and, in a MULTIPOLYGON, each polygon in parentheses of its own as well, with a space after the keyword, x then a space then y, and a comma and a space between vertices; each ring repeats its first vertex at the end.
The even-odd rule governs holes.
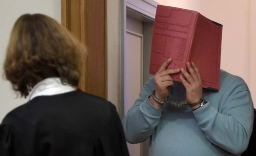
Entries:
MULTIPOLYGON (((127 17, 124 53, 124 114, 138 99, 142 88, 143 23, 127 17)), ((140 156, 140 144, 129 144, 131 156, 140 156)))

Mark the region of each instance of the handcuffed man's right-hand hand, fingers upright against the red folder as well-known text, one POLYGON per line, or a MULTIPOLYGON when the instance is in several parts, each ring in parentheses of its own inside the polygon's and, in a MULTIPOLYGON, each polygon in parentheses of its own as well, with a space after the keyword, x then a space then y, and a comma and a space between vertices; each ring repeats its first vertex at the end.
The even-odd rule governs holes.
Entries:
POLYGON ((191 64, 187 62, 187 69, 189 73, 186 72, 183 68, 181 68, 181 71, 185 78, 182 75, 180 75, 180 80, 184 87, 186 88, 187 103, 193 104, 200 101, 203 95, 202 81, 198 68, 193 62, 191 64))

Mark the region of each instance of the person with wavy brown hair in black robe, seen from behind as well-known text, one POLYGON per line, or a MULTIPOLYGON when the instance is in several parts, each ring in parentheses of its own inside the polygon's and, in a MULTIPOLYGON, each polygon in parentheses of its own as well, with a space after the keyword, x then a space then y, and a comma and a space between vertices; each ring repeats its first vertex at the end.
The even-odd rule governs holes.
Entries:
POLYGON ((128 156, 115 106, 76 89, 86 48, 56 20, 24 14, 12 29, 4 77, 28 101, 0 125, 1 156, 128 156))

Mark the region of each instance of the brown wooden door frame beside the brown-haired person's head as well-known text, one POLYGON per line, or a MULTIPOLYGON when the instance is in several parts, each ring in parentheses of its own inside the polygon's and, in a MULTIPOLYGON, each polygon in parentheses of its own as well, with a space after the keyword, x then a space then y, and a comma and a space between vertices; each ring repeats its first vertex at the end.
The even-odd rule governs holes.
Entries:
POLYGON ((61 24, 88 50, 79 88, 107 99, 107 0, 61 0, 61 24))

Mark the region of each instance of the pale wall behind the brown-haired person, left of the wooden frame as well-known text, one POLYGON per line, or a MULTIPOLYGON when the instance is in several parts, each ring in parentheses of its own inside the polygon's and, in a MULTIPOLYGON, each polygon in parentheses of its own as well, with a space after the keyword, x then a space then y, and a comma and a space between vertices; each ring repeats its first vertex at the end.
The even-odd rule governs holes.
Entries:
POLYGON ((46 14, 61 22, 61 0, 0 0, 0 122, 4 116, 26 100, 12 91, 2 78, 6 45, 14 22, 25 13, 46 14))

